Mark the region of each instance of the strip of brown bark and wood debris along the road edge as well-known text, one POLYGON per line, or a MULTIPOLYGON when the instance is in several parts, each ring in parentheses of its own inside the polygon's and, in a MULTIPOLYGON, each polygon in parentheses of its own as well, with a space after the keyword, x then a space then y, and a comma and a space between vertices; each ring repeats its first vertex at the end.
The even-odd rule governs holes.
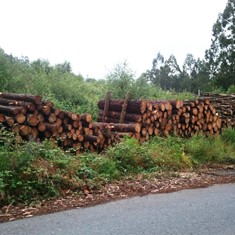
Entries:
POLYGON ((69 195, 41 201, 33 206, 4 206, 0 208, 0 222, 93 206, 109 201, 154 193, 170 193, 183 189, 209 187, 214 184, 235 183, 235 165, 217 165, 194 172, 158 174, 154 177, 137 176, 135 179, 107 184, 99 190, 84 189, 82 195, 69 195))

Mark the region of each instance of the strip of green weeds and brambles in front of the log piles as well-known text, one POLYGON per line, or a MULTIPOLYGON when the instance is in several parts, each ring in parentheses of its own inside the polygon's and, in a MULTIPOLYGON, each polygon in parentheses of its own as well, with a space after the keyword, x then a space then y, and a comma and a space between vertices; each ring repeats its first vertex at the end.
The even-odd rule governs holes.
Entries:
POLYGON ((17 143, 0 128, 0 206, 83 193, 123 177, 235 163, 235 130, 181 139, 154 137, 138 143, 125 138, 102 154, 65 153, 50 141, 17 143))

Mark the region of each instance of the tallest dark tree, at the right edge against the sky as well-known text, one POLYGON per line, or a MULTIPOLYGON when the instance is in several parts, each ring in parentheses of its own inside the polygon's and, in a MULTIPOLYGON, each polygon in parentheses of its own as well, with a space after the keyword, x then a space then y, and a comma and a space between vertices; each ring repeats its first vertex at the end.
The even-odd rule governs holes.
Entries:
POLYGON ((212 29, 210 49, 206 51, 211 78, 227 90, 235 85, 235 1, 228 0, 224 12, 212 29))

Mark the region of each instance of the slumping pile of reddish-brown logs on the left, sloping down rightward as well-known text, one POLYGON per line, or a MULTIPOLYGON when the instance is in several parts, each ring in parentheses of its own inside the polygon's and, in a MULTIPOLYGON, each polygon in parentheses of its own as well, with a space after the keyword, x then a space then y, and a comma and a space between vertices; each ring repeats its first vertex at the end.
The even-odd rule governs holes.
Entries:
POLYGON ((18 140, 58 140, 61 147, 77 153, 99 152, 115 141, 108 131, 113 128, 110 124, 93 126, 90 114, 62 111, 40 96, 0 93, 0 123, 13 130, 18 140))

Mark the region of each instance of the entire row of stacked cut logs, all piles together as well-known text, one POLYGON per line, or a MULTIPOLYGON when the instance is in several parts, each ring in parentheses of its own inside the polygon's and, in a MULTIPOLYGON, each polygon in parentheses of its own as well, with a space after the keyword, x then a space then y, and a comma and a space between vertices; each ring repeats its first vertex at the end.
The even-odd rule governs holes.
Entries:
POLYGON ((98 120, 92 122, 90 114, 62 111, 40 96, 0 93, 0 123, 13 130, 18 139, 57 140, 63 149, 74 148, 77 153, 101 152, 125 135, 144 142, 151 136, 169 134, 213 135, 222 127, 234 125, 234 96, 146 101, 129 100, 128 96, 111 100, 108 94, 98 107, 98 120), (224 118, 227 113, 230 116, 224 118))

